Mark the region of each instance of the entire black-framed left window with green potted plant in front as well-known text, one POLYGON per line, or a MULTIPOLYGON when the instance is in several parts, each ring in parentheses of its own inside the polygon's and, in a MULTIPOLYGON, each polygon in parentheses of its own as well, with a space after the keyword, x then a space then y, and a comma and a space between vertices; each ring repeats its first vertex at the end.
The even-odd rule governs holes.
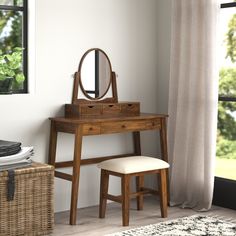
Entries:
POLYGON ((0 0, 0 92, 27 93, 27 0, 0 0))

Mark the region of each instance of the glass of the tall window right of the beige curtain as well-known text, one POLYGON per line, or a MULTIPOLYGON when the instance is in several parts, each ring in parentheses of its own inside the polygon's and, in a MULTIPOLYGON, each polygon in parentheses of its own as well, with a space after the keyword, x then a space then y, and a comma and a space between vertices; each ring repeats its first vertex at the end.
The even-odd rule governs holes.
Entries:
POLYGON ((220 22, 219 95, 229 101, 218 104, 216 176, 236 180, 236 7, 221 9, 220 22))

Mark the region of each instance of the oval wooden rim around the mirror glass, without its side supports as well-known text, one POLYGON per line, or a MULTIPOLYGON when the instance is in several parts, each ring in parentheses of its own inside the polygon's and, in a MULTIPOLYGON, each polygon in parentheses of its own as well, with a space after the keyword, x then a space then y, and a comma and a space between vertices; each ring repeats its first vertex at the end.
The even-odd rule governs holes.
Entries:
POLYGON ((91 48, 91 49, 89 49, 88 51, 86 51, 86 52, 84 53, 84 55, 82 56, 81 60, 80 60, 78 71, 80 72, 80 80, 79 80, 80 88, 81 88, 81 90, 82 90, 82 92, 83 92, 83 94, 84 94, 84 96, 85 96, 86 98, 88 98, 88 99, 90 99, 90 100, 99 100, 99 99, 103 98, 103 97, 107 94, 107 92, 108 92, 108 90, 109 90, 109 88, 110 88, 110 86, 111 86, 112 67, 111 67, 111 62, 110 62, 110 60, 109 60, 107 54, 106 54, 103 50, 101 50, 100 48, 91 48), (109 78, 109 82, 108 82, 107 88, 106 88, 105 92, 104 92, 101 96, 95 97, 95 98, 89 96, 89 94, 88 94, 88 93, 86 92, 86 90, 84 89, 84 86, 83 86, 83 83, 82 83, 83 78, 82 78, 82 75, 81 75, 81 71, 82 71, 84 59, 85 59, 86 56, 87 56, 90 52, 92 52, 92 51, 95 51, 95 52, 96 52, 96 51, 102 52, 102 53, 104 54, 104 56, 106 57, 106 59, 107 59, 107 61, 108 61, 108 64, 109 64, 109 67, 110 67, 110 78, 109 78))

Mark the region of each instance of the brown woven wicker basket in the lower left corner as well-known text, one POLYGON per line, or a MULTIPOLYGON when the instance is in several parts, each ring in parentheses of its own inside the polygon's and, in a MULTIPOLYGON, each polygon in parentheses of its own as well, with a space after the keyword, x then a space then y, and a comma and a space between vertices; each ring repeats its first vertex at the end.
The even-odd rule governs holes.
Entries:
POLYGON ((54 226, 54 168, 40 163, 15 170, 15 195, 7 201, 8 172, 0 172, 0 236, 47 235, 54 226))

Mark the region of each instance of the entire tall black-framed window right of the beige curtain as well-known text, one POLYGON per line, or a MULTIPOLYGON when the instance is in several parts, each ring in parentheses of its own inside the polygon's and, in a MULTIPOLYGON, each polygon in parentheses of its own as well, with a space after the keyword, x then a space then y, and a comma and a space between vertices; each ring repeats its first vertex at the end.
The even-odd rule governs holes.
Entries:
POLYGON ((221 63, 213 203, 236 209, 236 2, 221 4, 221 63))

